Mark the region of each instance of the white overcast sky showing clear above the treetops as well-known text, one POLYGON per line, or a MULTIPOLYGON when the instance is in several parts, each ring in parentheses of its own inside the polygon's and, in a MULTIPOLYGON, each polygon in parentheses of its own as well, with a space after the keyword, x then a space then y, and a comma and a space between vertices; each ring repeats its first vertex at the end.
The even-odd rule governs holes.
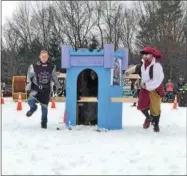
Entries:
MULTIPOLYGON (((11 17, 12 12, 16 9, 21 1, 2 1, 2 25, 5 24, 6 18, 11 17)), ((124 1, 128 6, 133 1, 124 1)))

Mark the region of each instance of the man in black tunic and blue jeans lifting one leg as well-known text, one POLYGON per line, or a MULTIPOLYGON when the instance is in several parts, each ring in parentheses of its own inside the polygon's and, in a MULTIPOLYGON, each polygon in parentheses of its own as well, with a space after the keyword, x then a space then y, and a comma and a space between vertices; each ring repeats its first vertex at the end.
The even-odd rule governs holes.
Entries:
POLYGON ((31 64, 27 72, 26 91, 29 92, 28 104, 30 110, 27 117, 37 110, 37 103, 41 104, 41 128, 47 128, 48 103, 51 98, 52 82, 58 87, 58 78, 55 66, 48 61, 48 52, 42 50, 40 60, 31 64))

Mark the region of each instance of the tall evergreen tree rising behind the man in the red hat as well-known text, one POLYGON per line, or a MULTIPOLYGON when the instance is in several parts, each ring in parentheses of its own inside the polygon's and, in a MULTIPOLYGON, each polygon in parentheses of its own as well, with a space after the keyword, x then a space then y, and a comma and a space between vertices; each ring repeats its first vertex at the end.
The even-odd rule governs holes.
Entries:
POLYGON ((181 2, 148 1, 144 3, 144 8, 146 14, 142 14, 139 22, 136 45, 139 50, 148 45, 160 49, 164 55, 166 79, 176 78, 173 70, 179 69, 174 58, 178 57, 180 51, 177 35, 182 18, 181 2))

